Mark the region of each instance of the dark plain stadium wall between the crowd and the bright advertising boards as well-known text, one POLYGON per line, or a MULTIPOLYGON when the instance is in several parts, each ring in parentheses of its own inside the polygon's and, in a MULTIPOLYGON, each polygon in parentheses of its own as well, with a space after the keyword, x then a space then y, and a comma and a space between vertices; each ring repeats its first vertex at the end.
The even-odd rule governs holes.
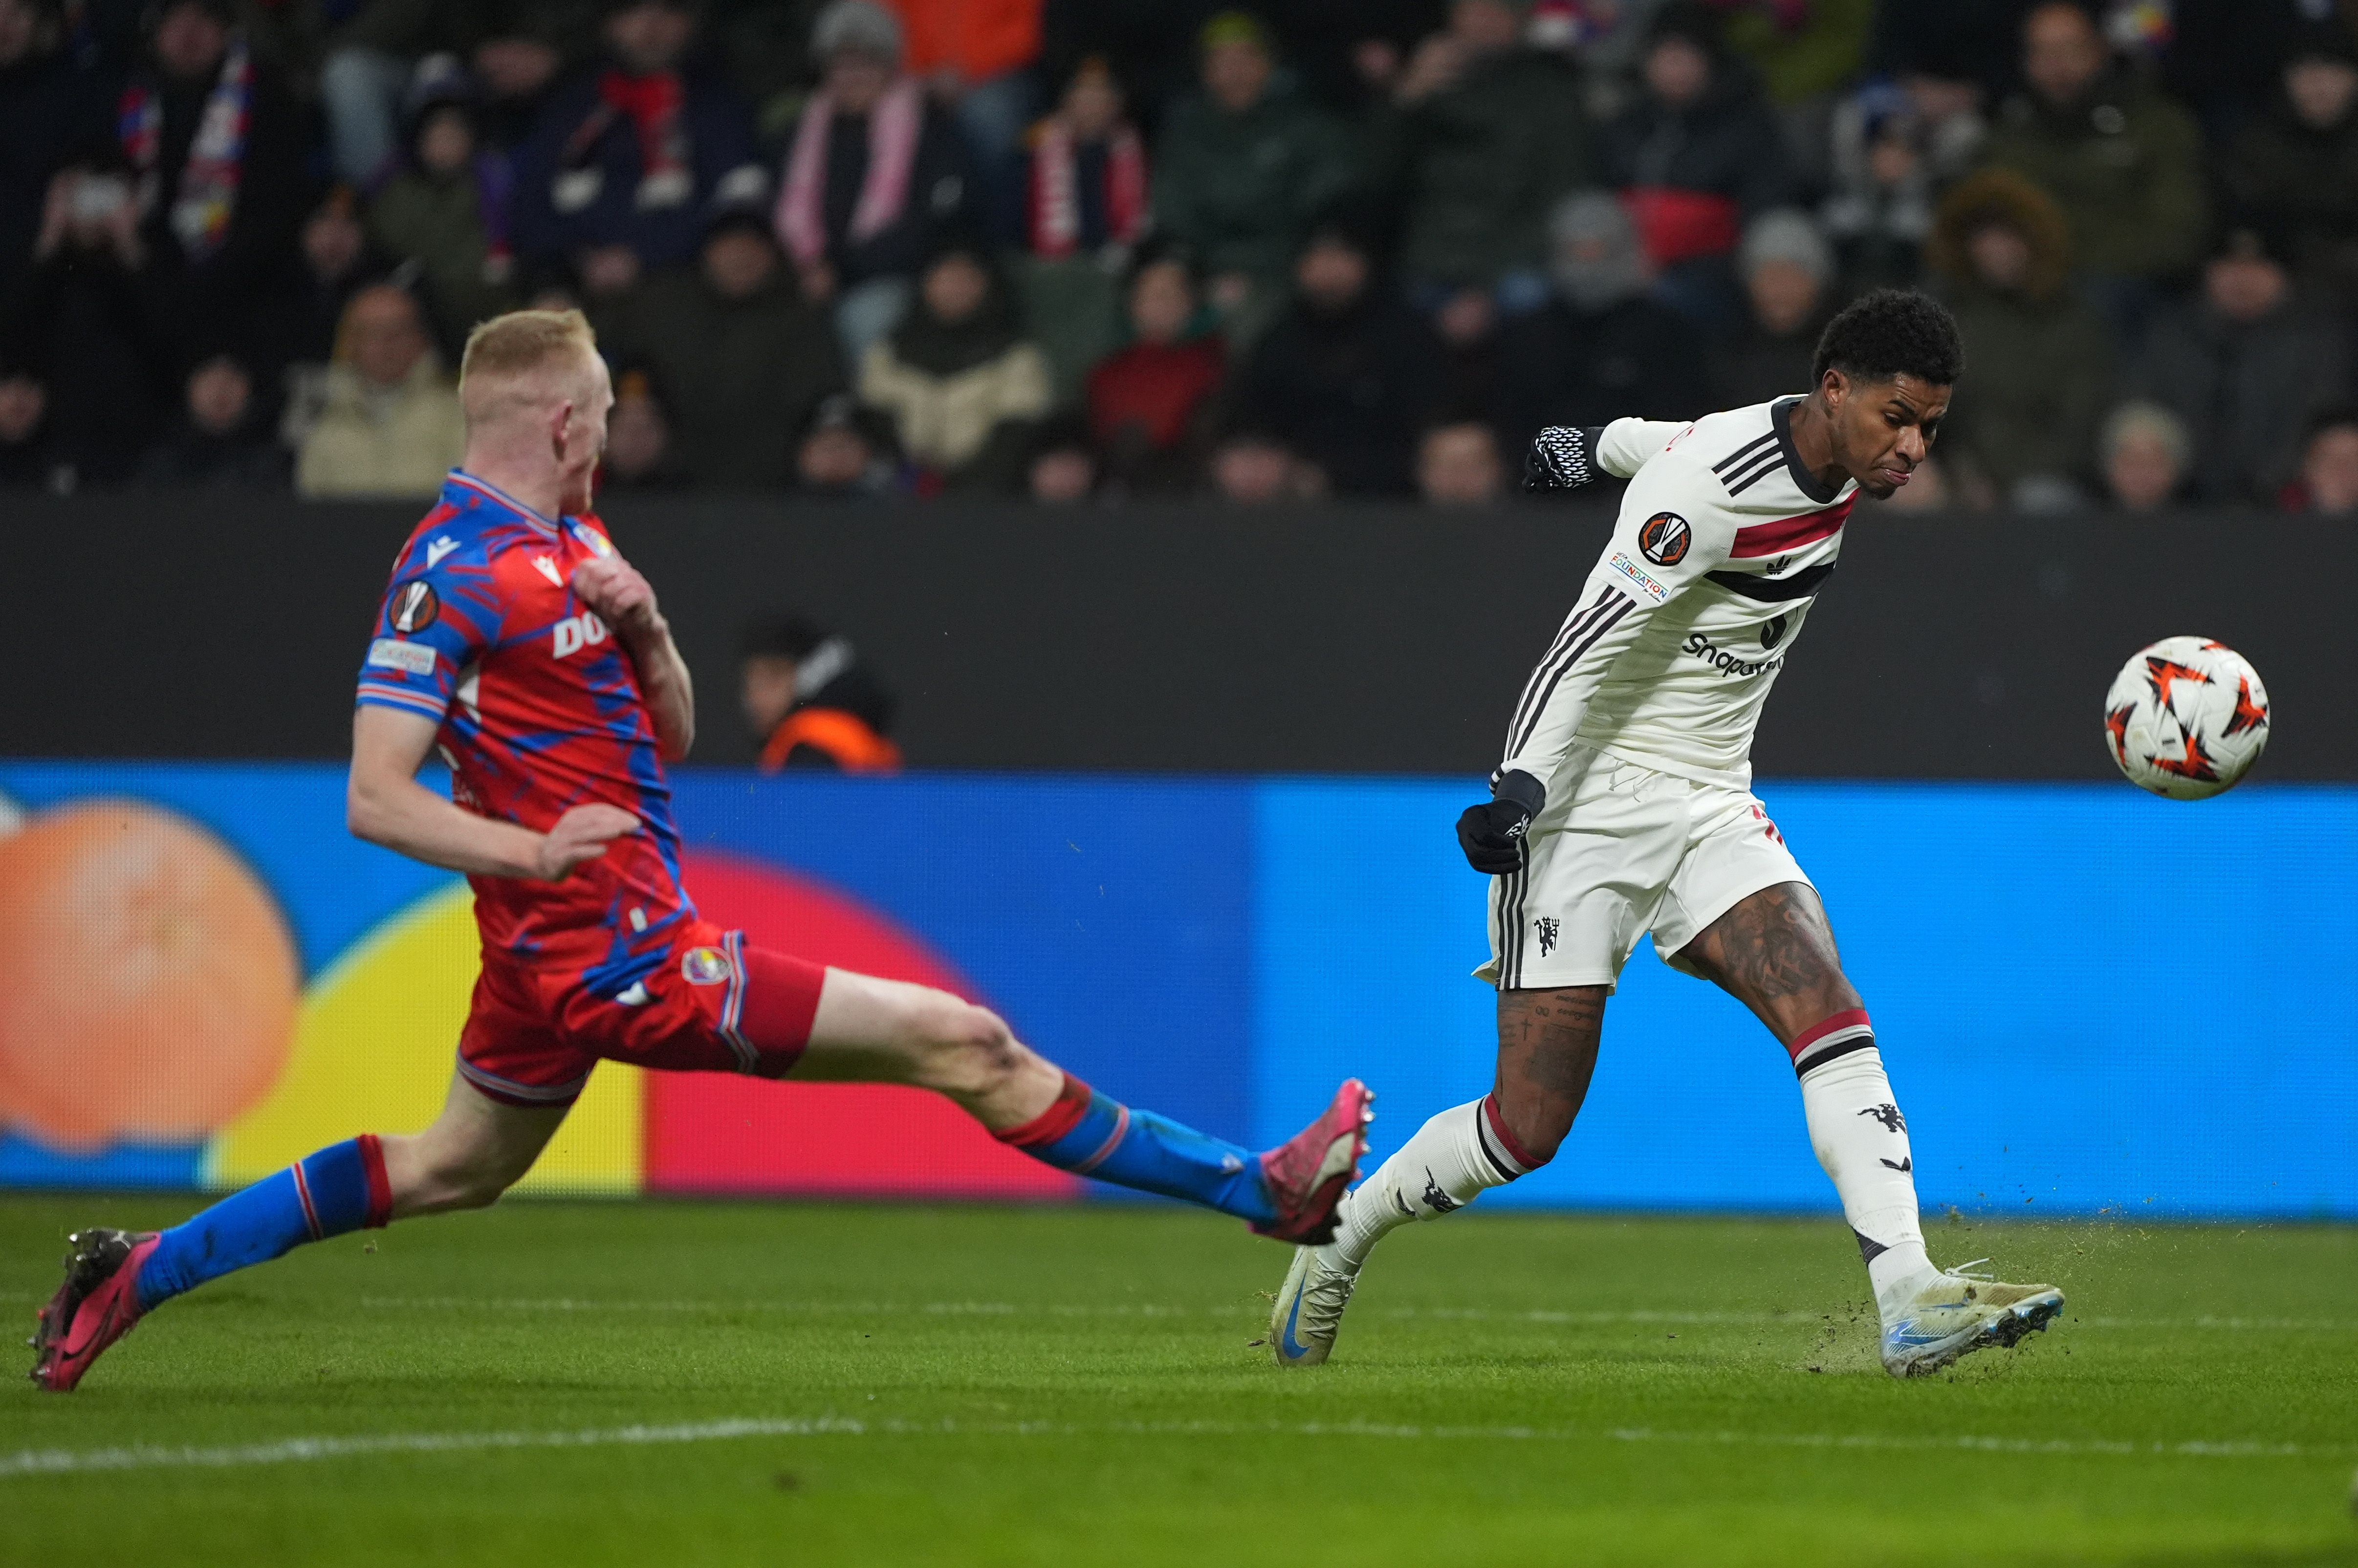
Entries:
MULTIPOLYGON (((1611 512, 1516 507, 606 507, 698 672, 700 762, 747 762, 764 613, 847 632, 917 766, 1476 773, 1611 512)), ((337 757, 415 505, 12 502, 19 757, 337 757)), ((2103 778, 2139 646, 2200 632, 2268 681, 2259 778, 2358 778, 2339 599, 2358 531, 2264 514, 1860 514, 1780 674, 1764 776, 2103 778)))

